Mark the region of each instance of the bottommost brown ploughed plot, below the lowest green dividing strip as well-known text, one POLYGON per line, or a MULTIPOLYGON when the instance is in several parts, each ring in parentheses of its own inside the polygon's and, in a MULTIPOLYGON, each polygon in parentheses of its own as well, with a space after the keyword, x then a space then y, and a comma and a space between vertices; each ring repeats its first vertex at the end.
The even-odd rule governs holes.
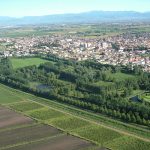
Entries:
POLYGON ((63 135, 42 142, 9 148, 7 150, 79 150, 81 147, 87 148, 89 146, 92 146, 89 142, 70 135, 63 135))

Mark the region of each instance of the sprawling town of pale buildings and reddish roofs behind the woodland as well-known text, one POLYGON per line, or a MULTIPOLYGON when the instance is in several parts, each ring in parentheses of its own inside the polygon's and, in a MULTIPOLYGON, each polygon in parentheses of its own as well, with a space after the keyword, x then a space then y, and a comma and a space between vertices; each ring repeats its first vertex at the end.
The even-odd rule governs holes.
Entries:
POLYGON ((54 54, 82 61, 94 59, 111 65, 141 66, 150 71, 150 33, 125 33, 105 38, 77 35, 45 35, 0 38, 0 57, 54 54))

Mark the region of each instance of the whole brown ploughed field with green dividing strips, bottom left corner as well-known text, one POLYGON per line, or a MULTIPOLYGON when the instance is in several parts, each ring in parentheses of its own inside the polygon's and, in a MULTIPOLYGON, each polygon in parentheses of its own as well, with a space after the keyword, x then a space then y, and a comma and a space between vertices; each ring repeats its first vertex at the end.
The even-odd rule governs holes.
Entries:
POLYGON ((81 147, 90 148, 93 144, 0 106, 0 150, 78 150, 81 147))

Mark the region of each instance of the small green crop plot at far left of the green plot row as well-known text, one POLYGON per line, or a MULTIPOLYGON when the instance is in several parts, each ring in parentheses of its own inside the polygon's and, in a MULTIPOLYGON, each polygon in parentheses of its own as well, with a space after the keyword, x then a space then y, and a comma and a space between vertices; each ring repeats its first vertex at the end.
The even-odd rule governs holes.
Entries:
POLYGON ((37 103, 27 101, 27 102, 10 105, 10 107, 17 111, 25 112, 25 111, 30 111, 34 109, 39 109, 39 108, 42 108, 43 106, 37 103))

